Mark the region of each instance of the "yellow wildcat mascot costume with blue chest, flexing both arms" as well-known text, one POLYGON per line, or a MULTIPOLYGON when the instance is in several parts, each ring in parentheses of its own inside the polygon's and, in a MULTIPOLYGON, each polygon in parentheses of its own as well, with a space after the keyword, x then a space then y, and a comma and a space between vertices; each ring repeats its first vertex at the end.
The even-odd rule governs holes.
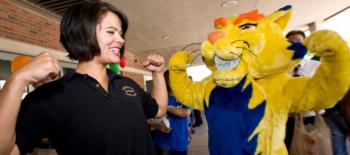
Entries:
POLYGON ((286 155, 288 113, 330 108, 350 83, 347 43, 329 30, 311 34, 304 43, 283 35, 291 6, 264 16, 257 10, 215 20, 215 32, 201 45, 212 74, 192 82, 187 73, 191 52, 170 59, 170 84, 176 98, 204 109, 212 155, 286 155), (311 77, 292 78, 287 71, 307 51, 321 57, 311 77))

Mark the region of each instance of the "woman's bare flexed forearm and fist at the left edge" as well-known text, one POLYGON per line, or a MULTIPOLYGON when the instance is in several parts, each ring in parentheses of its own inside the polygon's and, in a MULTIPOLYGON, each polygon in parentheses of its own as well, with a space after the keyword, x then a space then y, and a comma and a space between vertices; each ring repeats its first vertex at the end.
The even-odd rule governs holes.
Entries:
POLYGON ((60 71, 58 61, 48 53, 40 53, 17 67, 0 91, 0 154, 20 154, 15 131, 25 86, 44 84, 56 78, 60 71))

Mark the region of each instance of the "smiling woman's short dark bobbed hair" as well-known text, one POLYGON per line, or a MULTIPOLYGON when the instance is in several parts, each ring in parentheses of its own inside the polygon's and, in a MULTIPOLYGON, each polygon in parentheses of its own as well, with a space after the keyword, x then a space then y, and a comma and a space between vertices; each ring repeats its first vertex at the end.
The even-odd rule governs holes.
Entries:
MULTIPOLYGON (((64 14, 60 25, 60 41, 68 52, 70 59, 89 61, 100 55, 100 47, 96 38, 96 25, 99 24, 106 13, 116 14, 123 30, 122 37, 128 29, 128 19, 113 5, 100 1, 83 1, 70 7, 64 14)), ((124 54, 124 48, 120 55, 124 54)))

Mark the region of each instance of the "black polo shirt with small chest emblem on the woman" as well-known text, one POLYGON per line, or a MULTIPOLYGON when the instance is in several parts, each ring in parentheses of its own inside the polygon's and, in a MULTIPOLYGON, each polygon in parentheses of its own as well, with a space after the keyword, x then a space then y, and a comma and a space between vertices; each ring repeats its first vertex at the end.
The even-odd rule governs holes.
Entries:
POLYGON ((29 93, 19 112, 16 144, 31 152, 48 137, 63 155, 153 155, 146 118, 158 105, 133 80, 107 71, 108 92, 75 71, 29 93))

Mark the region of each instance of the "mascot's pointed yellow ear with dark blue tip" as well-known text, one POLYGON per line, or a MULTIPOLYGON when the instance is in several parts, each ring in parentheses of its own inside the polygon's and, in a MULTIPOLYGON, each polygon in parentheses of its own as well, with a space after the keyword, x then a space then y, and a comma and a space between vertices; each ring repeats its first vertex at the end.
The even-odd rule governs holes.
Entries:
POLYGON ((276 12, 270 14, 266 18, 268 20, 271 20, 275 22, 277 25, 281 27, 282 30, 284 30, 289 22, 289 19, 292 15, 292 6, 286 5, 283 8, 280 8, 276 12))

